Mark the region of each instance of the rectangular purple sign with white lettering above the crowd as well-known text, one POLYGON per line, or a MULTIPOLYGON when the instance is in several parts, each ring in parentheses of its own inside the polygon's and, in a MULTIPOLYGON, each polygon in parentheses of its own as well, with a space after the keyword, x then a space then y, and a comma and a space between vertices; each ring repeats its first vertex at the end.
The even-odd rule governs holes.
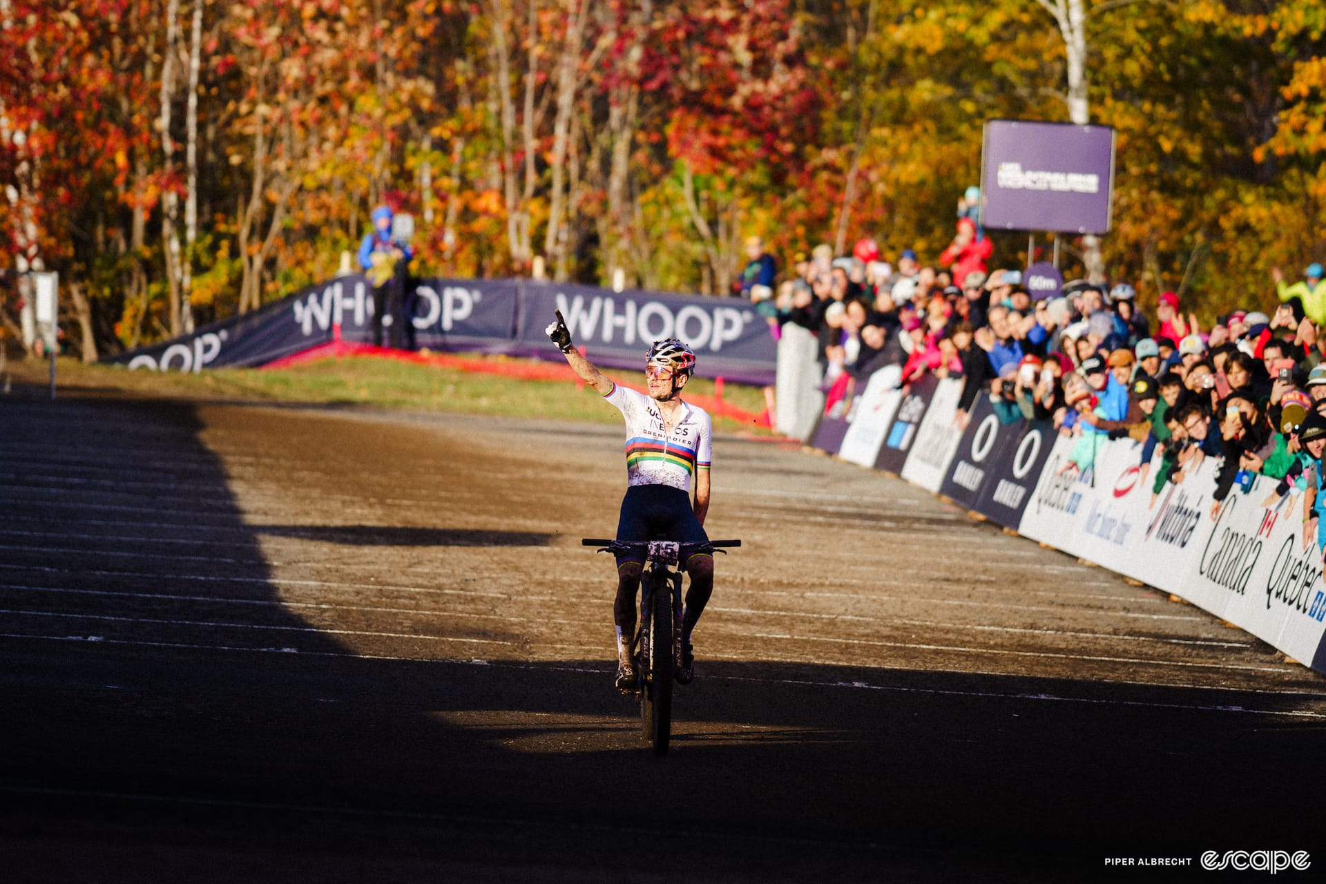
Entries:
POLYGON ((1113 127, 985 122, 981 223, 987 229, 1105 233, 1113 197, 1113 127))

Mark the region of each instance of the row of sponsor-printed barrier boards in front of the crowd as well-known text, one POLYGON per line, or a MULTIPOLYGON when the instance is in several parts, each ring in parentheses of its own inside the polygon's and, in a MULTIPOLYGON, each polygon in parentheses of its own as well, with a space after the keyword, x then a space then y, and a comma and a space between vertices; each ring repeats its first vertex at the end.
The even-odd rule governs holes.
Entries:
POLYGON ((1065 469, 1077 437, 1049 421, 998 425, 985 398, 957 433, 948 383, 923 380, 907 391, 867 384, 850 423, 821 421, 817 445, 833 449, 842 432, 841 456, 859 464, 883 437, 876 465, 900 460, 898 472, 923 488, 943 464, 937 488, 955 502, 1181 596, 1326 672, 1322 551, 1302 535, 1301 494, 1265 506, 1277 482, 1257 477, 1246 492, 1236 485, 1212 518, 1217 459, 1159 493, 1151 490, 1159 453, 1142 464, 1142 445, 1131 439, 1102 437, 1089 469, 1065 469), (882 417, 888 408, 896 410, 892 420, 882 417))

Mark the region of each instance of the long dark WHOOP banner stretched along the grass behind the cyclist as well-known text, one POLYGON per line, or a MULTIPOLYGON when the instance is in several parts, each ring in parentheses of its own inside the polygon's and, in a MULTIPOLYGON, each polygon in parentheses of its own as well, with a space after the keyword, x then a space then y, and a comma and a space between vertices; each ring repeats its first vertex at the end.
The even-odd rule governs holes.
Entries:
MULTIPOLYGON (((573 339, 603 367, 639 368, 652 341, 678 337, 699 357, 696 374, 770 384, 777 351, 768 323, 736 298, 610 292, 525 280, 412 280, 404 296, 414 347, 561 359, 544 334, 561 310, 573 339)), ((259 310, 103 362, 154 371, 261 366, 341 337, 374 339, 369 281, 346 276, 259 310)))

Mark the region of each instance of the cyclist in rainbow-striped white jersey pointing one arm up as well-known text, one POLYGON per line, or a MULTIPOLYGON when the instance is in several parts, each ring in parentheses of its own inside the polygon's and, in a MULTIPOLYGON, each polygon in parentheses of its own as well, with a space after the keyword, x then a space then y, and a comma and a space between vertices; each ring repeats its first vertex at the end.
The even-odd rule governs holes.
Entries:
MULTIPOLYGON (((655 341, 644 360, 648 395, 619 387, 609 380, 572 345, 572 334, 557 313, 546 329, 566 362, 585 383, 615 406, 626 419, 626 496, 617 524, 617 539, 648 541, 659 533, 680 543, 708 543, 704 517, 709 510, 709 457, 713 428, 709 415, 682 400, 682 388, 695 371, 695 353, 676 338, 655 341), (691 478, 695 502, 691 502, 691 478)), ((635 663, 631 637, 635 635, 635 595, 640 587, 644 559, 618 557, 617 600, 617 687, 635 689, 635 663)), ((683 562, 691 575, 682 615, 680 659, 674 669, 680 684, 695 676, 691 634, 713 591, 713 555, 692 553, 683 562)))

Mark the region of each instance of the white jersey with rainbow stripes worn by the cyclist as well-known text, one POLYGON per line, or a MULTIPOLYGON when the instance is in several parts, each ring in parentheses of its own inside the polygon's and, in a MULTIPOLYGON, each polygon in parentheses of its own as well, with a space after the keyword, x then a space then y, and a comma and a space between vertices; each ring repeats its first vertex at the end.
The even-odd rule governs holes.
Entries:
POLYGON ((664 436, 663 414, 650 396, 618 384, 606 396, 626 419, 626 484, 671 485, 691 492, 696 470, 709 469, 713 424, 709 414, 682 403, 682 419, 664 436))

